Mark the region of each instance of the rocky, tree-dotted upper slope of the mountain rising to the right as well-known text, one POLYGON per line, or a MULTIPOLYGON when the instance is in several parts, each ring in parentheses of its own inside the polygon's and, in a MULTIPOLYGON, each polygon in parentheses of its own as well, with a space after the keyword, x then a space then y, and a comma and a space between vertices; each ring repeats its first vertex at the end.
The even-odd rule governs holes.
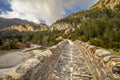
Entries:
POLYGON ((91 18, 119 17, 120 0, 100 0, 90 10, 73 13, 66 18, 57 20, 51 25, 51 30, 65 30, 80 27, 91 18))

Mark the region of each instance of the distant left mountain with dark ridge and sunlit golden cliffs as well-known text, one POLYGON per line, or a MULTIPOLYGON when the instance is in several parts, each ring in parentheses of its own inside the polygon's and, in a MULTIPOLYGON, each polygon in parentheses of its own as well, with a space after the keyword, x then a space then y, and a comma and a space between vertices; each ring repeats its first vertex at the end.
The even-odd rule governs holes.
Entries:
POLYGON ((27 20, 21 20, 17 18, 0 18, 0 29, 18 31, 42 31, 47 30, 48 26, 46 24, 36 24, 27 20))

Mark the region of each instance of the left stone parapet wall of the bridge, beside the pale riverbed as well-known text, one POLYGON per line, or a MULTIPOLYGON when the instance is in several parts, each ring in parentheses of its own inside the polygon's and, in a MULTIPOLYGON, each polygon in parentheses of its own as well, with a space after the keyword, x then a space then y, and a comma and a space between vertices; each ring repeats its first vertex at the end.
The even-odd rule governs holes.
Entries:
POLYGON ((39 50, 30 51, 33 53, 33 57, 17 66, 6 69, 9 74, 2 75, 0 80, 48 80, 49 74, 57 65, 62 49, 67 44, 69 44, 68 40, 64 40, 43 52, 39 50))

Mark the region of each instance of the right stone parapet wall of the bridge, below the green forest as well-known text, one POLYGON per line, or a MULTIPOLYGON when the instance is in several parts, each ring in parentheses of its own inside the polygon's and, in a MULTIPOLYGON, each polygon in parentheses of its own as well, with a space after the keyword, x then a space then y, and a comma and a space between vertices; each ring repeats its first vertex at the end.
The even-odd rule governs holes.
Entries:
MULTIPOLYGON (((74 43, 76 47, 82 51, 83 55, 85 55, 86 61, 88 59, 86 64, 96 67, 98 69, 96 70, 96 72, 98 72, 98 76, 101 74, 101 78, 95 78, 95 80, 106 79, 106 76, 111 78, 110 80, 120 79, 120 56, 115 56, 105 49, 84 43, 79 40, 76 40, 74 43)), ((91 68, 89 69, 92 72, 91 68)), ((93 72, 93 76, 94 75, 97 75, 97 73, 94 74, 93 72)))

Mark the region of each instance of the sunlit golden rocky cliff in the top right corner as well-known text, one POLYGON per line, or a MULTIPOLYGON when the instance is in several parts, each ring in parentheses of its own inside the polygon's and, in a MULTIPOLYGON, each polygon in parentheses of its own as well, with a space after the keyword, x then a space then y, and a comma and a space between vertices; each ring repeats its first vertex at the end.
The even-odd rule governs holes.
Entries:
POLYGON ((120 4, 120 0, 99 0, 97 4, 91 7, 91 9, 94 8, 110 8, 114 9, 116 5, 120 4))

